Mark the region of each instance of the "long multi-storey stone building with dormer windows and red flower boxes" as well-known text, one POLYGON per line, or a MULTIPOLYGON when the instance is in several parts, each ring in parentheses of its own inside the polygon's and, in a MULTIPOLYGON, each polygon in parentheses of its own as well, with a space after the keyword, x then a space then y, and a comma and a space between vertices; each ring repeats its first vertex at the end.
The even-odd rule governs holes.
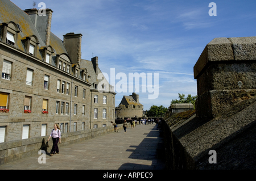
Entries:
POLYGON ((15 149, 22 140, 47 136, 55 123, 63 133, 109 126, 115 93, 98 91, 110 85, 98 85, 98 57, 81 58, 82 35, 55 36, 51 9, 39 16, 9 0, 0 6, 1 158, 16 154, 6 149, 9 143, 15 149))

